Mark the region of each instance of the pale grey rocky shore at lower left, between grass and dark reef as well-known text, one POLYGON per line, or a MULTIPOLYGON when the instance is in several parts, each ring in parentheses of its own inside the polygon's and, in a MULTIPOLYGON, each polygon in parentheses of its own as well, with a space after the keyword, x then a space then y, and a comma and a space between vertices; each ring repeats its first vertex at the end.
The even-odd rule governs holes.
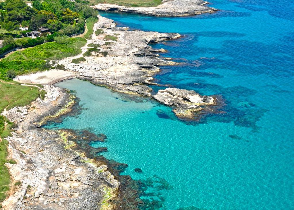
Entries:
POLYGON ((44 118, 61 116, 74 104, 65 89, 44 89, 43 101, 38 98, 31 106, 2 113, 17 124, 7 137, 8 158, 16 164, 6 164, 13 180, 4 209, 110 209, 107 201, 115 196, 119 182, 107 166, 71 149, 76 143, 66 132, 40 128, 44 118))

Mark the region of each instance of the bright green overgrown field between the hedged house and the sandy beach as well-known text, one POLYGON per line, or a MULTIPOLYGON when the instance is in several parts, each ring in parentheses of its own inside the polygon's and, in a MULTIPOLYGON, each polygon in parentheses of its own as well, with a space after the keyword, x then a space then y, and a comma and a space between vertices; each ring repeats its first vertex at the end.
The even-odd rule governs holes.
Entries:
POLYGON ((0 61, 0 79, 6 79, 6 71, 13 69, 16 75, 44 71, 50 66, 45 60, 60 60, 80 54, 86 39, 81 37, 68 38, 61 44, 47 42, 23 51, 16 51, 0 61))

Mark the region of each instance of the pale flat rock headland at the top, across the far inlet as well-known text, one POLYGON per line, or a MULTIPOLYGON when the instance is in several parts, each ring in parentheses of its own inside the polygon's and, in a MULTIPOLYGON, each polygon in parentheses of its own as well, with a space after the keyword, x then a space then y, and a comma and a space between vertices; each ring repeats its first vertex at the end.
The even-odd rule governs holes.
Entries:
POLYGON ((98 4, 93 6, 93 8, 103 11, 118 11, 153 16, 188 16, 217 11, 217 9, 205 6, 205 4, 208 4, 208 2, 202 0, 163 0, 163 4, 156 7, 127 7, 113 4, 98 4))

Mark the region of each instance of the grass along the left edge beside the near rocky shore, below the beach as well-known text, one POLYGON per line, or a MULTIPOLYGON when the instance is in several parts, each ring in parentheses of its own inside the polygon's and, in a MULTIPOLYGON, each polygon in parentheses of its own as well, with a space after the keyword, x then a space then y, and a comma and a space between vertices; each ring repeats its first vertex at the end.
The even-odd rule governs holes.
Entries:
MULTIPOLYGON (((44 94, 44 92, 43 92, 44 94)), ((37 87, 20 86, 0 81, 0 113, 6 108, 9 110, 14 106, 29 105, 40 96, 40 90, 37 87)), ((5 163, 15 163, 13 160, 7 160, 8 141, 4 138, 11 135, 11 128, 14 126, 4 116, 0 115, 0 203, 6 198, 6 191, 9 190, 10 175, 5 163), (5 122, 8 123, 5 126, 5 122)))

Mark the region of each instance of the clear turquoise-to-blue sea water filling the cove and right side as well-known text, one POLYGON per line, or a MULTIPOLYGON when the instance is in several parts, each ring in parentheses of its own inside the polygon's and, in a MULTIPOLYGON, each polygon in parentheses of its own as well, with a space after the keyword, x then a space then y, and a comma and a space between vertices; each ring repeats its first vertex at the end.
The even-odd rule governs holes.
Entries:
POLYGON ((107 142, 92 146, 107 147, 103 156, 128 164, 123 174, 156 174, 170 184, 148 189, 164 197, 161 209, 294 209, 294 3, 216 0, 211 6, 221 11, 101 14, 121 26, 182 34, 153 45, 169 51, 162 56, 185 62, 161 68, 156 81, 221 95, 225 114, 185 123, 155 101, 132 101, 74 79, 59 86, 75 90, 85 109, 47 127, 105 134, 107 142))

